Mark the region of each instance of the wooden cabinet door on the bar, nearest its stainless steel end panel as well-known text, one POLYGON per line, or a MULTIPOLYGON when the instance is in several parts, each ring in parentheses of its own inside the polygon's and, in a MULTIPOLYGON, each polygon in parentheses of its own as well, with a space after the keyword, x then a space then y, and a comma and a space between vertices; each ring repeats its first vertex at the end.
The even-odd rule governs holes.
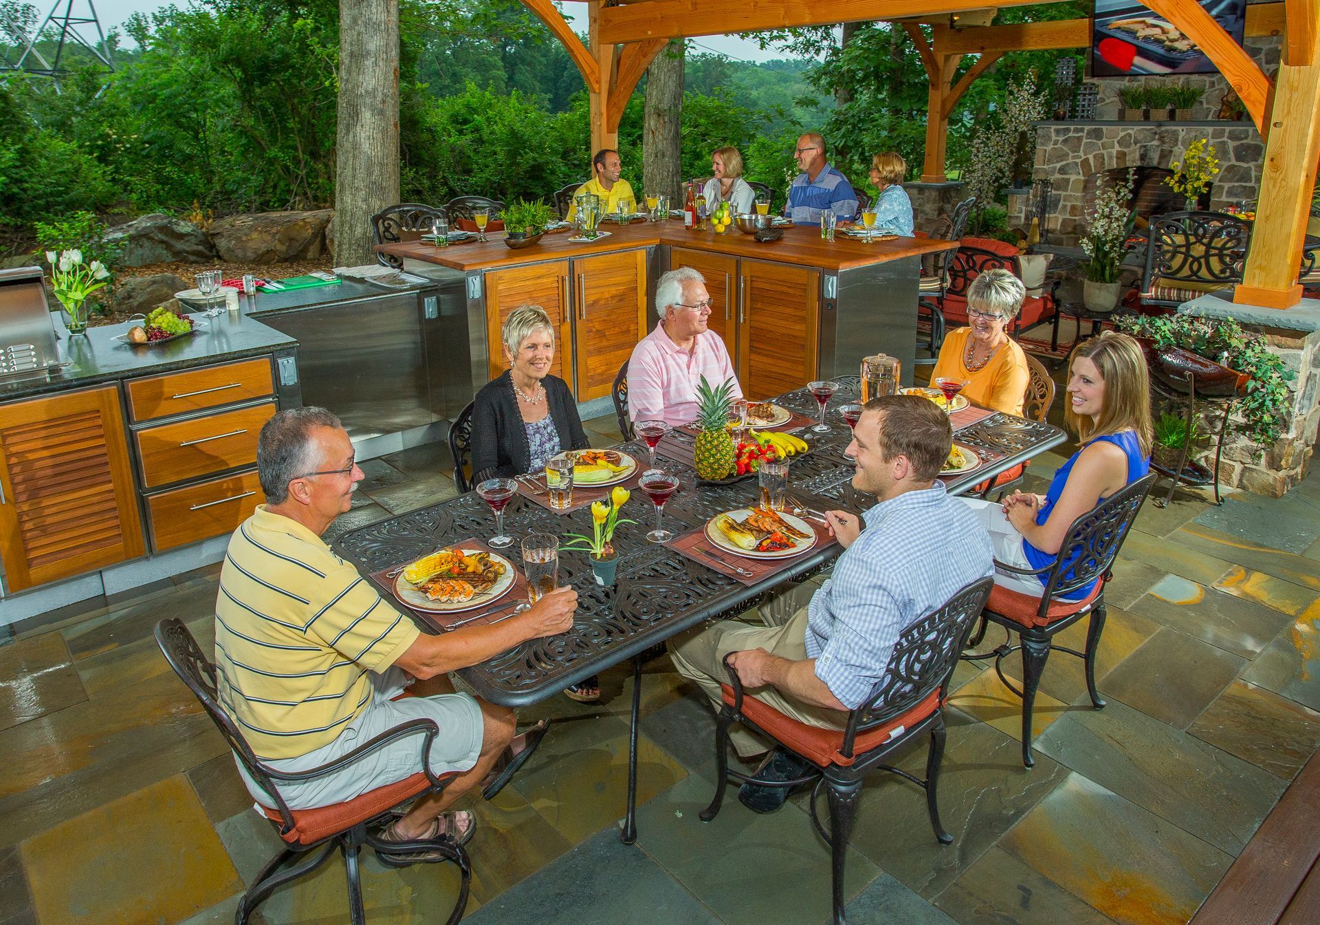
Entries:
POLYGON ((820 271, 742 261, 738 380, 748 399, 768 399, 816 379, 820 271))

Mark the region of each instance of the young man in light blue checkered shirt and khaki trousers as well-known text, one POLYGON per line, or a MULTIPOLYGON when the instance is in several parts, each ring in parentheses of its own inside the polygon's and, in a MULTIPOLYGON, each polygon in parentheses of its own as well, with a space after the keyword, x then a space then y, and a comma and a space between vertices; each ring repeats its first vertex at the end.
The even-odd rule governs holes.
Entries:
MULTIPOLYGON (((678 672, 718 710, 722 660, 733 652, 730 664, 751 697, 800 722, 843 728, 847 711, 884 677, 903 629, 994 570, 990 536, 936 478, 952 442, 948 414, 923 397, 867 402, 847 451, 857 458, 853 486, 876 504, 861 519, 826 512, 843 546, 833 577, 809 602, 804 598, 813 589, 803 585, 763 607, 766 625, 721 620, 669 640, 678 672)), ((770 747, 742 726, 730 730, 730 739, 743 759, 770 747)), ((804 767, 779 748, 758 776, 792 780, 804 767)), ((788 798, 788 788, 744 784, 738 797, 768 813, 788 798)))

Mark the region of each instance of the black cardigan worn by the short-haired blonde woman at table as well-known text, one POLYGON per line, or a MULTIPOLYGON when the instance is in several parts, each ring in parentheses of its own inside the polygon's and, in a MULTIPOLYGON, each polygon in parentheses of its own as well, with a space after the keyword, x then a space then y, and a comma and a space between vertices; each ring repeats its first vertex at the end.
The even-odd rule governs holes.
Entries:
MULTIPOLYGON (((550 418, 560 434, 564 450, 585 450, 590 446, 582 430, 582 418, 569 387, 558 376, 541 380, 550 418)), ((482 385, 473 399, 473 484, 494 478, 523 475, 532 464, 532 449, 527 443, 527 425, 517 409, 513 380, 508 369, 498 379, 482 385)))

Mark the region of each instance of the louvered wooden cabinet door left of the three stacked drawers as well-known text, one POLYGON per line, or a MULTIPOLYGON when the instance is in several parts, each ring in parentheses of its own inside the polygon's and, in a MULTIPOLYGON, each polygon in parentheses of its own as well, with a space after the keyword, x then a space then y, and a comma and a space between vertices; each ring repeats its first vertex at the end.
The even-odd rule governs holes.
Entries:
POLYGON ((0 557, 9 590, 143 554, 119 389, 0 406, 0 557))

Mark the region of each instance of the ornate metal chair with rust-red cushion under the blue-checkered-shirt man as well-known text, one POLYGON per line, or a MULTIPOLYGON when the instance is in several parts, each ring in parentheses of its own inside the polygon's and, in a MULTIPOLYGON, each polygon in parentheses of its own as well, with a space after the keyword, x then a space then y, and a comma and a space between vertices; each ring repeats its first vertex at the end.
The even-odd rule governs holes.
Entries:
POLYGON ((958 664, 968 633, 993 587, 991 579, 982 578, 968 585, 939 610, 911 624, 899 636, 890 656, 884 677, 876 684, 870 698, 847 713, 842 730, 825 730, 800 723, 762 703, 744 697, 738 673, 725 658, 729 684, 721 685, 723 706, 715 720, 715 796, 701 810, 702 822, 710 822, 719 813, 729 777, 770 786, 796 786, 816 780, 812 790, 810 814, 816 831, 830 846, 834 892, 834 922, 846 925, 843 918, 843 858, 853 829, 857 797, 862 779, 874 769, 890 771, 925 790, 925 806, 931 827, 941 845, 953 842, 953 835, 940 825, 936 790, 940 780, 940 761, 944 757, 944 713, 949 678, 958 664), (729 769, 729 727, 743 723, 780 743, 809 761, 814 768, 805 777, 792 781, 770 782, 729 769), (931 744, 925 763, 925 780, 899 771, 886 761, 929 734, 931 744), (829 788, 829 831, 821 825, 816 802, 821 786, 829 788))

